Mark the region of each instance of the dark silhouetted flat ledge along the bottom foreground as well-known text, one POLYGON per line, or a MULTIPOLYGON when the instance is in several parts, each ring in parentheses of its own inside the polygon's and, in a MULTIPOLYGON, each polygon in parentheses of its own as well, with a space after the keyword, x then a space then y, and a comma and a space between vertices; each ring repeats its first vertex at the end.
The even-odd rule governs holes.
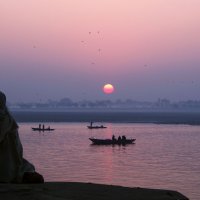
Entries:
POLYGON ((1 200, 188 200, 176 191, 121 186, 47 182, 0 184, 1 200))

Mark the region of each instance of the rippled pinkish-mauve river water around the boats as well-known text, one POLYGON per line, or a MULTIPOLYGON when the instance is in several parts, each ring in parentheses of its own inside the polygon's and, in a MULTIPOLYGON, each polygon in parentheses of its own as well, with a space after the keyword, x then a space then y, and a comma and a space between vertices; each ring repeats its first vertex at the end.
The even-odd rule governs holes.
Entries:
POLYGON ((200 199, 200 126, 107 123, 49 123, 53 132, 33 132, 20 123, 24 157, 46 181, 81 181, 177 190, 200 199), (136 138, 127 146, 95 146, 89 137, 136 138))

